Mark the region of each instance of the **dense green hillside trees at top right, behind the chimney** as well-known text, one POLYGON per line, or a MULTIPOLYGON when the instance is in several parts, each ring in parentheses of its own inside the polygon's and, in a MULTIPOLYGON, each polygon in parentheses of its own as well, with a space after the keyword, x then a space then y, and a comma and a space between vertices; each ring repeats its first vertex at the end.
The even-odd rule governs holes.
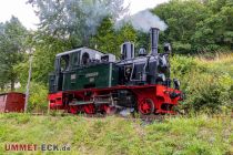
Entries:
POLYGON ((162 41, 178 53, 213 52, 233 43, 232 0, 171 0, 153 9, 169 28, 162 41))

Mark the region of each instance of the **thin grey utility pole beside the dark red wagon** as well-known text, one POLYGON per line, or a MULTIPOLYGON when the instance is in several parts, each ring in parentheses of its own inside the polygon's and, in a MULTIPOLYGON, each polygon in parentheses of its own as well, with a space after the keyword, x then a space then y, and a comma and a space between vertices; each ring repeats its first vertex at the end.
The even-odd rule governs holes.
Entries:
POLYGON ((32 65, 32 50, 29 51, 29 76, 28 76, 28 83, 27 83, 27 87, 26 87, 24 113, 27 113, 28 102, 29 102, 29 90, 30 90, 30 82, 31 82, 31 65, 32 65))

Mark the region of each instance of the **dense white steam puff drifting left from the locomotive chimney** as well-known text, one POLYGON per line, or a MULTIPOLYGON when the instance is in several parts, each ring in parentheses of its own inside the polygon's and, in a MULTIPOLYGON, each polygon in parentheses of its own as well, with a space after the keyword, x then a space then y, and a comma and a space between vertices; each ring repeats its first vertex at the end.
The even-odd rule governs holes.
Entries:
POLYGON ((164 31, 168 25, 158 16, 149 10, 140 11, 131 17, 125 17, 115 23, 115 29, 121 29, 125 23, 131 23, 134 29, 148 32, 150 28, 159 28, 164 31))

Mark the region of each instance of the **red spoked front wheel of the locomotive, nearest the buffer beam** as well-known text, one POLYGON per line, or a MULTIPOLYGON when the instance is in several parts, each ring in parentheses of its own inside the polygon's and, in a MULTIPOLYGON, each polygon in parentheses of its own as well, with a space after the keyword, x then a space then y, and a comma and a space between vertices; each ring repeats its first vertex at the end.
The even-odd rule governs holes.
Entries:
POLYGON ((154 112, 154 103, 151 99, 143 99, 139 102, 139 112, 149 115, 154 112))

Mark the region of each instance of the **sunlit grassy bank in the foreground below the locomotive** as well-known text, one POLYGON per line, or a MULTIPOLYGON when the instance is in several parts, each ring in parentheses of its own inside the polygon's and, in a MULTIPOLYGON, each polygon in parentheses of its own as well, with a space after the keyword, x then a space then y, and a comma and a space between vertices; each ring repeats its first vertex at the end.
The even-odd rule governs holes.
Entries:
MULTIPOLYGON (((91 155, 222 155, 233 154, 233 121, 231 116, 168 117, 163 122, 144 124, 139 120, 115 116, 51 116, 0 114, 0 154, 4 145, 58 144, 70 145, 70 152, 43 154, 91 155)), ((27 152, 42 154, 42 152, 27 152)))

